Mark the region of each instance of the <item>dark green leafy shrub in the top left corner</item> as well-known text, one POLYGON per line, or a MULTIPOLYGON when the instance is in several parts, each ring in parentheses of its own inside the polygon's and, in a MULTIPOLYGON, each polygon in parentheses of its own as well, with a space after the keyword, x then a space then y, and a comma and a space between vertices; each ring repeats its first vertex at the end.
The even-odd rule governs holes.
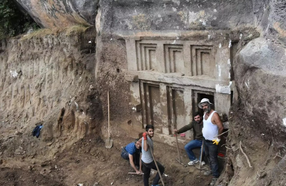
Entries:
POLYGON ((35 30, 38 25, 29 14, 22 13, 13 0, 0 0, 0 39, 21 34, 31 27, 35 30))

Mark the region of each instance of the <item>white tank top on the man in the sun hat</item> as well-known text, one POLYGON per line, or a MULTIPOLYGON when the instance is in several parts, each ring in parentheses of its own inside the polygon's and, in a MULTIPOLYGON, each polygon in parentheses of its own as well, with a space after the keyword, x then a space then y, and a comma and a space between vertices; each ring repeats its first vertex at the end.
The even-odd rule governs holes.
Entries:
POLYGON ((205 115, 203 115, 203 137, 207 140, 215 140, 217 138, 214 138, 218 135, 218 127, 217 125, 212 124, 212 115, 217 112, 213 111, 211 115, 209 115, 209 118, 205 120, 205 115))

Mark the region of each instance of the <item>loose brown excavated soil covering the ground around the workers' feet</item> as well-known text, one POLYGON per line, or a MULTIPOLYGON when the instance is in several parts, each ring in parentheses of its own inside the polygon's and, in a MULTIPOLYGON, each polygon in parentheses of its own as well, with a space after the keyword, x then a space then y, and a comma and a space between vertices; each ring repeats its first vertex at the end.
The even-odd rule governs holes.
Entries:
MULTIPOLYGON (((114 139, 111 149, 105 147, 105 141, 100 136, 93 134, 71 143, 70 146, 58 145, 71 142, 68 138, 60 138, 50 145, 41 141, 41 135, 37 139, 30 133, 16 137, 5 134, 1 140, 0 158, 3 163, 0 165, 0 184, 143 185, 142 176, 127 174, 134 170, 128 161, 121 158, 120 152, 121 147, 133 139, 125 136, 126 132, 118 127, 114 124, 114 129, 111 130, 114 139)), ((203 176, 203 171, 194 166, 185 168, 178 164, 175 160, 176 148, 157 142, 154 145, 155 156, 165 167, 165 185, 209 184, 211 176, 203 176)), ((188 158, 183 150, 181 155, 184 163, 187 163, 188 158)), ((150 184, 154 175, 151 172, 150 184)))

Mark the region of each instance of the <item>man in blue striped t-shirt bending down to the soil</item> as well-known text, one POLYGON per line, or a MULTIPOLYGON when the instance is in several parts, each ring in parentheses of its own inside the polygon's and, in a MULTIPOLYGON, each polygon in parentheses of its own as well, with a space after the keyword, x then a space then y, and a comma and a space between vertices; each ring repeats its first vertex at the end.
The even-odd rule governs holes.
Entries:
MULTIPOLYGON (((142 139, 140 139, 142 141, 142 139)), ((142 173, 142 147, 139 139, 136 139, 134 142, 126 145, 122 148, 121 157, 125 160, 129 160, 131 167, 136 171, 136 174, 141 175, 142 173), (139 170, 136 166, 139 165, 139 170)))

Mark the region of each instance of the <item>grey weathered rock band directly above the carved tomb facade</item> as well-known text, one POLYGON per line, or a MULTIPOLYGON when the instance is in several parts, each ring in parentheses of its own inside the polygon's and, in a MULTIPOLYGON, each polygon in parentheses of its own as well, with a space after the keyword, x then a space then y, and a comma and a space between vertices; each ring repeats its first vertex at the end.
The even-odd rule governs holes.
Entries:
POLYGON ((264 1, 105 0, 100 4, 105 29, 180 31, 254 26, 262 18, 264 1))

